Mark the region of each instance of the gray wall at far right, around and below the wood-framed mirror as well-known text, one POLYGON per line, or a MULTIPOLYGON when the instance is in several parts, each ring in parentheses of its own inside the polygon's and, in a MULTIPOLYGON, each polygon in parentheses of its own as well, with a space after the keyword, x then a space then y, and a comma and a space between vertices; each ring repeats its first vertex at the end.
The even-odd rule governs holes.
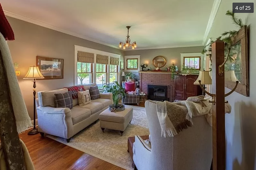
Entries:
MULTIPOLYGON (((256 13, 250 13, 250 97, 234 92, 226 97, 232 106, 226 114, 226 170, 256 170, 256 13)), ((226 93, 229 89, 225 89, 226 93)))

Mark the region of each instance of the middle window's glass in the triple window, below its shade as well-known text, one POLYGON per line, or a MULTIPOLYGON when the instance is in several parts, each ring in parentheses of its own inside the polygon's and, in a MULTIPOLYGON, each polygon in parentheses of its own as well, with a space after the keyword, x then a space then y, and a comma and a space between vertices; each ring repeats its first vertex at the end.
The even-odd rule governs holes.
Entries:
POLYGON ((103 88, 103 84, 107 80, 107 65, 96 64, 96 84, 98 88, 103 88))

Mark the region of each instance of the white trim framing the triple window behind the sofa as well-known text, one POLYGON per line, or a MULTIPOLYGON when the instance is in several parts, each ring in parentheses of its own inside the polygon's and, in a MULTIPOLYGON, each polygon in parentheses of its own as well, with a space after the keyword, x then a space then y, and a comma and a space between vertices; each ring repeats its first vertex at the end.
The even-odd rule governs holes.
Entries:
MULTIPOLYGON (((110 52, 105 52, 105 51, 100 51, 100 50, 95 50, 92 48, 87 48, 87 47, 83 47, 83 46, 78 46, 78 45, 74 45, 75 47, 75 55, 74 55, 74 59, 75 59, 75 70, 74 70, 74 85, 77 85, 77 53, 78 51, 82 51, 82 52, 90 52, 94 54, 94 63, 92 63, 92 83, 96 83, 96 55, 100 54, 103 56, 108 56, 108 66, 107 66, 107 76, 108 76, 108 80, 106 81, 107 83, 109 83, 109 70, 110 70, 110 56, 111 57, 116 57, 119 58, 120 61, 120 54, 114 54, 114 53, 110 53, 110 52)), ((118 82, 120 84, 120 64, 118 64, 118 82)))

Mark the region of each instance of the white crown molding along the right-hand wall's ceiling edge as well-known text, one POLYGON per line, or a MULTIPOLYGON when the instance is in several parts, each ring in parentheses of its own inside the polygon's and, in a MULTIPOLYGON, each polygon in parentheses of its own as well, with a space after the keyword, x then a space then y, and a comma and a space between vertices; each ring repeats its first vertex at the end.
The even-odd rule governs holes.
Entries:
POLYGON ((213 2, 210 18, 208 20, 208 24, 207 24, 207 27, 206 27, 206 30, 205 30, 205 33, 204 33, 204 38, 203 38, 203 42, 202 42, 203 45, 206 44, 207 37, 210 33, 210 30, 212 28, 212 24, 214 22, 214 19, 216 17, 216 14, 218 12, 219 7, 220 7, 220 2, 221 2, 221 0, 214 0, 214 2, 213 2))

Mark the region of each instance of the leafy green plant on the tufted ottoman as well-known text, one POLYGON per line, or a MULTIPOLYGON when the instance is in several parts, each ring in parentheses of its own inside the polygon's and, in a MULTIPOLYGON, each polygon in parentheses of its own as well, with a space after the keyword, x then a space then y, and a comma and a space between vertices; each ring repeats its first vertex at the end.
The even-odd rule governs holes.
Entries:
POLYGON ((124 88, 120 86, 117 81, 110 84, 104 84, 103 88, 105 88, 105 92, 112 92, 114 106, 115 108, 118 108, 120 98, 125 96, 124 88))

